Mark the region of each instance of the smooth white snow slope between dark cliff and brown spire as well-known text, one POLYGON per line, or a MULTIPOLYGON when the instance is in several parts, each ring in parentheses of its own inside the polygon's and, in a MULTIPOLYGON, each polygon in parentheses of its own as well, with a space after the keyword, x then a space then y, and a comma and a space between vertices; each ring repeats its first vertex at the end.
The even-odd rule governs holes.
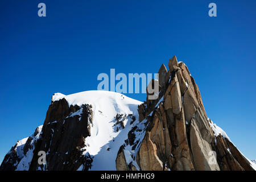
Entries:
MULTIPOLYGON (((58 101, 65 98, 69 105, 92 105, 93 124, 91 125, 91 136, 85 138, 86 152, 93 156, 91 170, 115 170, 115 158, 119 147, 127 139, 131 128, 138 123, 138 105, 142 102, 126 97, 120 93, 104 90, 93 90, 80 92, 65 96, 56 93, 52 96, 52 101, 58 101), (133 125, 130 125, 127 117, 123 124, 124 129, 115 131, 114 117, 117 114, 136 117, 133 125)), ((80 167, 81 169, 81 167, 80 167)))

